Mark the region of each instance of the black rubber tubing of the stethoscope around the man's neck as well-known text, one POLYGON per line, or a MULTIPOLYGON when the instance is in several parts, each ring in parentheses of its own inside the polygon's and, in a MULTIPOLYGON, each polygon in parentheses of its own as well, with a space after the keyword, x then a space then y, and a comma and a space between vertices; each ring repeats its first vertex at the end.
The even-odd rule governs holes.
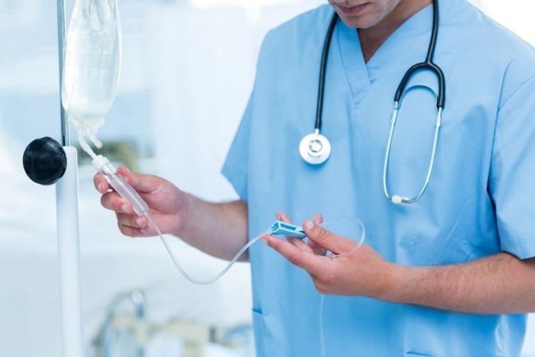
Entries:
MULTIPOLYGON (((331 38, 333 37, 334 27, 336 26, 336 21, 338 20, 338 14, 335 12, 331 23, 329 24, 329 29, 327 30, 327 36, 323 44, 322 52, 322 61, 320 65, 320 81, 318 88, 318 106, 316 109, 316 120, 315 120, 315 129, 320 131, 322 126, 322 110, 323 110, 323 95, 325 90, 325 73, 327 72, 327 58, 329 57, 329 47, 331 45, 331 38)), ((438 96, 436 99, 436 108, 444 108, 445 103, 445 77, 442 72, 441 67, 438 67, 433 62, 433 56, 435 53, 436 47, 436 38, 438 37, 438 0, 433 0, 433 27, 431 30, 431 40, 429 40, 429 47, 427 49, 427 56, 425 62, 417 63, 413 65, 407 72, 404 74, 400 85, 398 85, 395 92, 394 101, 399 102, 403 91, 406 87, 406 83, 409 81, 411 76, 419 71, 420 69, 429 69, 431 72, 436 74, 438 79, 438 96)))

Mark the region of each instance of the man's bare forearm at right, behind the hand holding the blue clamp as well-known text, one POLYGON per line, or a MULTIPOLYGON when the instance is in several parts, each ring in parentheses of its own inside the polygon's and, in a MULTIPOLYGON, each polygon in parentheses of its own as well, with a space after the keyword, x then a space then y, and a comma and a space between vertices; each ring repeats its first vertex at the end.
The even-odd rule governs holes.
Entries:
POLYGON ((388 301, 479 314, 535 311, 535 258, 502 253, 459 265, 390 267, 388 301))

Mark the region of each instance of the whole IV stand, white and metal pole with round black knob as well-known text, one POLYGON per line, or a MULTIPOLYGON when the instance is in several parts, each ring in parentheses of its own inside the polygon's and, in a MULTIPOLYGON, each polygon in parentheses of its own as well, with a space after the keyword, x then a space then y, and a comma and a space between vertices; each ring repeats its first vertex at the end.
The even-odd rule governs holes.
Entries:
MULTIPOLYGON (((57 0, 59 88, 65 63, 65 0, 57 0)), ((60 95, 61 99, 61 95, 60 95)), ((60 100, 61 144, 53 138, 33 140, 24 151, 24 170, 41 185, 56 184, 56 226, 63 357, 83 357, 80 244, 78 215, 78 161, 69 146, 69 122, 60 100)))

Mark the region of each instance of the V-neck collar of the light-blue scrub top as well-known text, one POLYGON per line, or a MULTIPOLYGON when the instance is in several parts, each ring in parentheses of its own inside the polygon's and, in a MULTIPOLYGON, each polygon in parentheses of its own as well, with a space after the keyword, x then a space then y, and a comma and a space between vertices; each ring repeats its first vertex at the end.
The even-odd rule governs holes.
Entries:
MULTIPOLYGON (((446 1, 446 0, 443 0, 446 1)), ((455 1, 455 0, 447 0, 455 1)), ((442 1, 439 1, 441 3, 442 1)), ((439 5, 440 6, 440 5, 439 5)), ((444 6, 441 6, 440 20, 444 18, 442 13, 444 6)), ((343 21, 339 20, 336 26, 336 37, 338 39, 340 56, 345 68, 345 75, 347 82, 352 92, 352 97, 355 106, 365 97, 365 94, 370 90, 372 83, 376 81, 379 76, 388 75, 388 72, 393 70, 393 62, 403 56, 403 54, 411 49, 411 45, 422 37, 422 34, 430 32, 433 24, 433 7, 426 6, 407 19, 399 28, 397 28, 386 41, 377 49, 372 58, 365 63, 362 52, 359 35, 355 28, 348 27, 343 21), (407 40, 411 43, 407 43, 407 40)), ((440 24, 440 22, 439 22, 440 24)), ((424 49, 422 49, 422 58, 418 62, 423 62, 429 47, 429 36, 426 38, 424 49)), ((415 65, 411 63, 411 65, 415 65)), ((409 69, 407 67, 406 69, 409 69)), ((405 69, 405 71, 406 71, 405 69)), ((394 99, 395 90, 392 88, 392 100, 394 99)))

